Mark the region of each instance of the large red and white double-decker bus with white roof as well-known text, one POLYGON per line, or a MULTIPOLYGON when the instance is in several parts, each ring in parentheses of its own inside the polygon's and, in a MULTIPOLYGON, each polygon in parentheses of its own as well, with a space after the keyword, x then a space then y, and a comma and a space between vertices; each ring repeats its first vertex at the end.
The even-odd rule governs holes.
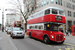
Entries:
POLYGON ((63 43, 65 35, 59 31, 59 26, 65 24, 64 10, 48 7, 29 16, 27 35, 42 40, 44 43, 63 43))

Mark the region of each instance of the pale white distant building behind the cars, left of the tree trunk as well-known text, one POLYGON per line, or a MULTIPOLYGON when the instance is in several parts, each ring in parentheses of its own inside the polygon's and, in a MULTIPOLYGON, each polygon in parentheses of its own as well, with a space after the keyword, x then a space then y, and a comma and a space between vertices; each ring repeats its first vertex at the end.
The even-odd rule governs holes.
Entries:
POLYGON ((20 14, 15 13, 6 14, 6 26, 14 24, 15 21, 21 21, 20 17, 21 17, 20 14))

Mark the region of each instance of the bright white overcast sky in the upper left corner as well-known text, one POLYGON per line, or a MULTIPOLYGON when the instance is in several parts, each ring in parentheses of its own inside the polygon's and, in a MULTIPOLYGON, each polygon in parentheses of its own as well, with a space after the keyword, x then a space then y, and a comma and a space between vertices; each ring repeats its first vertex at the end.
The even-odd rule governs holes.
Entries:
MULTIPOLYGON (((23 0, 20 0, 20 2, 22 2, 22 1, 23 0)), ((12 8, 14 2, 17 3, 17 0, 0 0, 0 23, 1 24, 2 24, 2 11, 3 11, 3 9, 14 9, 14 8, 16 8, 16 7, 12 8)), ((5 22, 6 22, 7 12, 9 12, 9 11, 8 10, 4 11, 4 25, 5 25, 5 22)))

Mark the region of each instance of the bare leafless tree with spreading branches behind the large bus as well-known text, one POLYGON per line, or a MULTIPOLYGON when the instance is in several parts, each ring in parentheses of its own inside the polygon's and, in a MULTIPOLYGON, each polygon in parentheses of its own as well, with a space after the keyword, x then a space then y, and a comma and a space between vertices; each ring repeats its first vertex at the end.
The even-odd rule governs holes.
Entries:
POLYGON ((29 15, 32 14, 34 9, 36 8, 36 0, 11 0, 10 2, 13 7, 15 8, 16 12, 19 12, 24 20, 25 20, 25 30, 27 30, 27 19, 29 15), (31 1, 31 2, 30 2, 31 1), (26 4, 25 7, 24 4, 26 4), (26 11, 23 10, 23 8, 27 9, 26 11))

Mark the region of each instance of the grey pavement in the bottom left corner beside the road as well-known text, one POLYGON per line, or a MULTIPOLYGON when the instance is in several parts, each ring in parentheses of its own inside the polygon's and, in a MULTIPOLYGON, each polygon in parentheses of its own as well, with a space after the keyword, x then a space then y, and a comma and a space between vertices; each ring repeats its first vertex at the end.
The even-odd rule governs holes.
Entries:
POLYGON ((0 31, 0 50, 17 50, 9 35, 2 31, 0 31))

